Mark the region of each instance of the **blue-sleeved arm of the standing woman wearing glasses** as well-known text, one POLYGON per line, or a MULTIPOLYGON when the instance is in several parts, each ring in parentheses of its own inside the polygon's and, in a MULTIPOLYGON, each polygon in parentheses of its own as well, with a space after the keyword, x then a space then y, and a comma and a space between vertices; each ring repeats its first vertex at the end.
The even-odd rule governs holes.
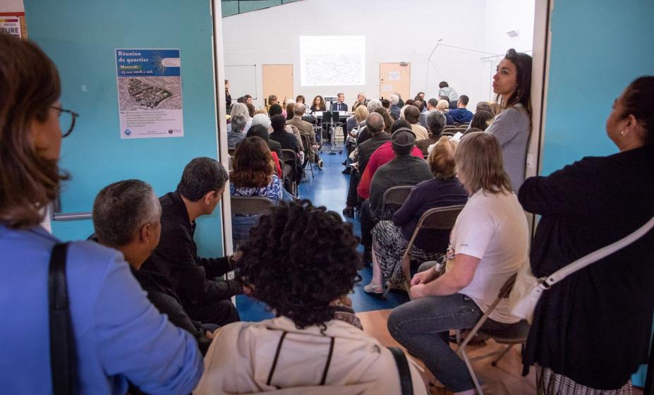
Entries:
POLYGON ((202 375, 202 356, 188 332, 145 297, 116 253, 93 301, 95 352, 107 376, 122 375, 147 394, 188 394, 202 375))

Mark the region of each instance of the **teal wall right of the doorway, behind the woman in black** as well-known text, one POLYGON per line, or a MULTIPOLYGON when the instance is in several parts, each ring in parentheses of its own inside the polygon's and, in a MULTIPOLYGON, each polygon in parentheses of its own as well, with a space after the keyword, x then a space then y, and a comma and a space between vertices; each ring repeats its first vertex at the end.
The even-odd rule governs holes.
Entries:
POLYGON ((605 121, 631 80, 654 75, 653 20, 652 0, 554 0, 542 174, 617 152, 605 121))

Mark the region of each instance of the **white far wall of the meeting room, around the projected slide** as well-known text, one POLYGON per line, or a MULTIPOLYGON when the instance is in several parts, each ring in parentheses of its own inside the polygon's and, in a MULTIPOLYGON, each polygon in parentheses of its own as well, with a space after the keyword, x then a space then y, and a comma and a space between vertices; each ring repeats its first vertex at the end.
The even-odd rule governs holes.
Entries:
MULTIPOLYGON (((487 1, 494 6, 499 2, 304 0, 229 16, 222 20, 225 64, 257 65, 257 107, 263 104, 261 70, 264 63, 293 64, 295 95, 304 95, 310 101, 315 95, 334 95, 342 91, 346 102, 352 104, 358 92, 365 92, 368 98, 379 97, 379 63, 401 61, 411 63, 411 97, 419 91, 426 92, 427 97, 435 97, 437 84, 447 80, 459 94, 468 95, 471 104, 475 104, 491 98, 489 62, 482 60, 488 55, 440 45, 431 61, 428 57, 441 38, 442 44, 478 51, 504 46, 494 52, 504 53, 509 47, 501 35, 506 37, 505 32, 516 27, 499 11, 487 10, 487 1), (489 14, 497 20, 488 23, 489 14), (365 85, 301 86, 300 35, 365 35, 365 85)), ((511 2, 519 4, 522 1, 511 2)), ((526 3, 531 4, 533 10, 533 0, 526 3)), ((523 15, 522 11, 517 15, 523 15)), ((533 24, 533 11, 526 20, 533 24)), ((521 39, 523 30, 528 30, 529 35, 533 30, 522 25, 519 29, 521 39)), ((531 49, 531 39, 529 42, 528 49, 531 49)), ((232 86, 231 90, 238 95, 238 87, 232 86)))

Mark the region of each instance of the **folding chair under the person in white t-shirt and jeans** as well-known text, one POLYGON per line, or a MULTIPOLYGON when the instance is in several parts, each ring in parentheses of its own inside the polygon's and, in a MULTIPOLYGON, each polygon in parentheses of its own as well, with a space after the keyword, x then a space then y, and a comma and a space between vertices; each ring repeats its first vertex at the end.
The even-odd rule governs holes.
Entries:
POLYGON ((511 327, 509 331, 502 332, 502 333, 497 333, 497 332, 490 332, 486 329, 483 329, 482 326, 486 320, 488 320, 488 316, 492 312, 492 310, 495 310, 499 302, 504 299, 509 297, 509 293, 511 293, 511 288, 513 288, 513 284, 516 282, 516 274, 513 276, 509 277, 507 281, 504 283, 502 288, 499 290, 499 293, 497 294, 497 298, 495 301, 490 305, 490 308, 486 310, 484 315, 481 316, 479 321, 475 324, 473 329, 468 332, 466 335, 466 339, 464 341, 461 341, 461 330, 457 329, 456 330, 456 343, 459 344, 459 348, 456 350, 456 353, 463 358, 464 363, 466 363, 466 367, 468 367, 468 372, 470 373, 470 377, 473 380, 473 383, 475 384, 475 388, 477 389, 477 393, 480 395, 483 395, 484 392, 481 389, 481 386, 479 384, 479 380, 477 378, 477 375, 475 374, 471 362, 473 360, 480 360, 484 358, 488 358, 491 356, 497 355, 497 358, 492 361, 493 366, 497 366, 497 363, 499 360, 501 360, 507 353, 515 346, 516 344, 525 344, 527 341, 527 335, 529 334, 529 328, 530 325, 525 321, 522 320, 518 322, 516 325, 511 327), (475 358, 468 358, 468 354, 466 354, 466 346, 468 345, 468 342, 473 339, 473 337, 479 334, 479 336, 482 336, 485 339, 493 339, 495 340, 496 343, 498 344, 503 344, 506 347, 503 350, 499 351, 494 351, 492 353, 485 354, 483 356, 478 356, 475 358))

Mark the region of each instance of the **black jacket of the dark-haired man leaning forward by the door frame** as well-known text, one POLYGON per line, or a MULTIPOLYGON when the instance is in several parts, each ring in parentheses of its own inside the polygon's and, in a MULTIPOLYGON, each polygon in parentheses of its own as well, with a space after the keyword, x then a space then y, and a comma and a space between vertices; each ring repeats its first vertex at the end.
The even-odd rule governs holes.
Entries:
POLYGON ((226 257, 198 257, 198 247, 193 241, 195 221, 191 223, 181 195, 177 191, 166 193, 159 202, 162 205, 162 236, 143 269, 167 277, 186 310, 243 293, 238 281, 213 280, 231 271, 226 257))

